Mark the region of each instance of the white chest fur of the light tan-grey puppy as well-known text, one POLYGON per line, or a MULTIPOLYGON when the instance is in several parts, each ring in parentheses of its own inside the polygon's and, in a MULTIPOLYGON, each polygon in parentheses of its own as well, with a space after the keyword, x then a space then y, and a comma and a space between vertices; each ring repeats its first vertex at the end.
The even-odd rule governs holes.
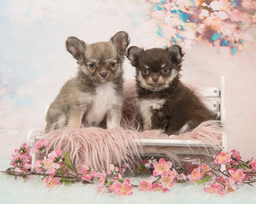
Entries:
POLYGON ((118 104, 119 99, 114 90, 113 82, 100 84, 96 88, 96 93, 91 96, 91 102, 85 119, 90 125, 98 125, 102 122, 107 112, 113 105, 118 104))

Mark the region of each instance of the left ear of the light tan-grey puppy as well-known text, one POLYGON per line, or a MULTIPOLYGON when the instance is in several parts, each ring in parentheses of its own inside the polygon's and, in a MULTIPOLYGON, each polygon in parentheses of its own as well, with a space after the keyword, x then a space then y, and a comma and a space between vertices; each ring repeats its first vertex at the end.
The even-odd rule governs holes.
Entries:
POLYGON ((86 44, 84 41, 79 40, 78 37, 68 37, 66 41, 67 51, 73 55, 74 59, 84 59, 84 50, 86 44))

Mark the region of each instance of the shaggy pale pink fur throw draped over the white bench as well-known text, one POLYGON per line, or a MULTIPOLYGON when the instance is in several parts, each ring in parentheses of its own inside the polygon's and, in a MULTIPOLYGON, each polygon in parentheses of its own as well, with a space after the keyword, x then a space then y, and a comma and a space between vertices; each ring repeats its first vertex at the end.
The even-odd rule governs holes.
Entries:
POLYGON ((205 155, 216 154, 214 150, 221 149, 222 127, 219 122, 207 121, 188 133, 178 137, 168 137, 156 131, 142 132, 142 121, 137 111, 136 85, 134 81, 124 84, 125 104, 121 127, 102 129, 101 127, 83 127, 69 129, 67 127, 44 134, 50 140, 49 150, 60 148, 69 152, 71 161, 79 169, 87 161, 96 170, 107 169, 109 164, 129 162, 140 156, 157 153, 169 157, 173 162, 180 163, 177 150, 189 150, 191 153, 203 152, 205 155), (211 144, 215 149, 200 147, 169 147, 169 146, 142 146, 135 139, 184 139, 200 140, 211 144))

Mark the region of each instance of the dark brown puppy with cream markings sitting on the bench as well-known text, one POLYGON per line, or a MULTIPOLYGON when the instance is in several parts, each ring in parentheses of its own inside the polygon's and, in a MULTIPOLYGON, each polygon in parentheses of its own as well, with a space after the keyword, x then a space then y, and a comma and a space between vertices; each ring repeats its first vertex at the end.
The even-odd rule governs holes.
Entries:
POLYGON ((160 129, 167 134, 189 131, 201 122, 216 119, 195 93, 179 80, 182 48, 131 47, 127 52, 137 71, 138 107, 143 130, 160 129))

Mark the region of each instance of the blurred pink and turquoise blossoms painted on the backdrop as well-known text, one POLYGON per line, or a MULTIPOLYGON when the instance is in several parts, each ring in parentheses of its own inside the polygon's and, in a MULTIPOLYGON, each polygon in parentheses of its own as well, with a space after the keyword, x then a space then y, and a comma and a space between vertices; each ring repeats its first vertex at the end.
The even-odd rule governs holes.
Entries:
MULTIPOLYGON (((150 26, 170 44, 191 48, 193 41, 229 47, 232 54, 242 50, 253 37, 247 32, 256 25, 256 2, 253 0, 149 0, 150 26)), ((148 31, 148 29, 145 29, 148 31)))

